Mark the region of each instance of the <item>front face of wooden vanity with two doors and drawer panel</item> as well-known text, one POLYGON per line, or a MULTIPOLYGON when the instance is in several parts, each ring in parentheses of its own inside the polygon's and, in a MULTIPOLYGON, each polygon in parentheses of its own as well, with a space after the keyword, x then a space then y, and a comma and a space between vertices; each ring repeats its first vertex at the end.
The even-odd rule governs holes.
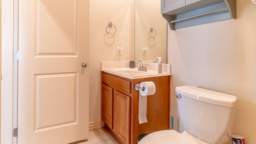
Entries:
POLYGON ((130 144, 130 83, 102 73, 102 120, 121 144, 130 144))

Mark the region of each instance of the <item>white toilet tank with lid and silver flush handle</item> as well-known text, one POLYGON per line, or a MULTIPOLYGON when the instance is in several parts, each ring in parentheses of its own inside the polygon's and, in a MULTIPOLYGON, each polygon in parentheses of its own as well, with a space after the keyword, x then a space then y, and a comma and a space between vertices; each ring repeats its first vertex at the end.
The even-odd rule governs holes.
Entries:
POLYGON ((192 86, 176 87, 176 92, 185 130, 210 144, 230 140, 236 96, 192 86))

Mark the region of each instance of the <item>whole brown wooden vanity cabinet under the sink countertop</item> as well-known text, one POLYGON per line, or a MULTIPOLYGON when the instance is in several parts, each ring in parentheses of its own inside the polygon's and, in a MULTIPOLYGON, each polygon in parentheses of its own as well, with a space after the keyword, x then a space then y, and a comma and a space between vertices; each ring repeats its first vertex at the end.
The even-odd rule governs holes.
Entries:
POLYGON ((170 76, 129 79, 102 71, 102 120, 120 144, 137 144, 140 134, 170 129, 170 76), (156 93, 148 96, 147 120, 138 122, 137 83, 152 81, 156 93))

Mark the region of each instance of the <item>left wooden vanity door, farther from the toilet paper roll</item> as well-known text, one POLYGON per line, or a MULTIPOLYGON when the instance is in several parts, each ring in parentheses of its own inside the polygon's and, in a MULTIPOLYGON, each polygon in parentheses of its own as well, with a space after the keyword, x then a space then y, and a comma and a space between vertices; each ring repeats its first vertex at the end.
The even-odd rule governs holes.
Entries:
POLYGON ((102 84, 102 120, 105 124, 113 129, 113 88, 102 84))

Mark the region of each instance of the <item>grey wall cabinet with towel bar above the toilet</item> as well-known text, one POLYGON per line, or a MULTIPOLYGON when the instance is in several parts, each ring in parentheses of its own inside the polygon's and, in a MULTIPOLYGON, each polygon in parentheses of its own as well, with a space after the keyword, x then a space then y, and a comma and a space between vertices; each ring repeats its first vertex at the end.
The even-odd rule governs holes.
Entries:
POLYGON ((236 0, 161 0, 161 14, 171 30, 236 19, 236 0))

